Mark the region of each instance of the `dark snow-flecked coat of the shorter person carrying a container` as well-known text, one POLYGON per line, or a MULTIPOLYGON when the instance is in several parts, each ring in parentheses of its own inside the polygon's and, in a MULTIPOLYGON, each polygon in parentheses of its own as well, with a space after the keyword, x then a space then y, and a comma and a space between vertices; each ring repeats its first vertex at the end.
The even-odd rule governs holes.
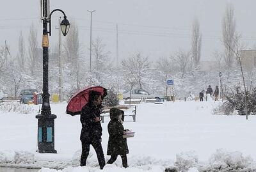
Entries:
POLYGON ((124 127, 117 119, 108 123, 108 150, 107 155, 125 155, 129 153, 127 140, 123 137, 124 127))

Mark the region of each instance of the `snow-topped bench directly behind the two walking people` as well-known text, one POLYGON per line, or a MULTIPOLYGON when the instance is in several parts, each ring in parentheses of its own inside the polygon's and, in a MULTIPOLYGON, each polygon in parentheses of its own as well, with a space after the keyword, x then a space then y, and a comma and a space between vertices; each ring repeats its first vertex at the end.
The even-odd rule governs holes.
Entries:
POLYGON ((102 123, 104 123, 104 117, 109 116, 109 114, 106 114, 106 113, 109 113, 109 110, 110 110, 112 107, 115 107, 115 108, 120 109, 120 110, 127 110, 127 109, 129 109, 129 108, 134 108, 134 110, 132 110, 132 114, 125 114, 125 113, 124 113, 124 116, 132 116, 133 121, 134 121, 134 122, 136 121, 136 109, 137 109, 137 106, 136 106, 136 105, 104 106, 104 109, 103 109, 102 113, 100 114, 100 118, 101 118, 101 122, 102 122, 102 123))

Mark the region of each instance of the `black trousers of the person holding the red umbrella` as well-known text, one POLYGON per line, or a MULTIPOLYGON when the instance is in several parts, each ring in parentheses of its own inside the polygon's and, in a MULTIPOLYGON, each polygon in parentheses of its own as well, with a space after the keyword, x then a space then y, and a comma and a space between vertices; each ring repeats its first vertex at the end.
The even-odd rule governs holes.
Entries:
POLYGON ((100 140, 92 139, 90 141, 82 141, 82 155, 81 155, 81 166, 86 166, 86 159, 90 152, 90 145, 93 146, 97 154, 99 161, 100 169, 103 169, 105 166, 105 158, 102 150, 100 140))

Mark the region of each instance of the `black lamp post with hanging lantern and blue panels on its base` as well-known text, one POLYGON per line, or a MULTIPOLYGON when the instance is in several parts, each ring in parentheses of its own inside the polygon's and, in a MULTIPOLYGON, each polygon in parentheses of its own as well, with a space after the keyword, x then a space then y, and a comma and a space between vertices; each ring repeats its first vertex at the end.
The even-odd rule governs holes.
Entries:
POLYGON ((50 101, 49 101, 49 84, 48 84, 48 61, 49 61, 49 39, 48 33, 51 36, 51 15, 55 11, 63 13, 64 19, 62 20, 60 27, 63 35, 67 35, 70 23, 67 20, 65 13, 56 9, 53 10, 49 17, 48 12, 48 0, 43 0, 43 94, 42 94, 42 109, 41 114, 36 115, 38 119, 38 152, 39 153, 57 153, 54 150, 54 119, 57 118, 55 114, 51 113, 50 101), (49 23, 49 31, 47 25, 49 23))

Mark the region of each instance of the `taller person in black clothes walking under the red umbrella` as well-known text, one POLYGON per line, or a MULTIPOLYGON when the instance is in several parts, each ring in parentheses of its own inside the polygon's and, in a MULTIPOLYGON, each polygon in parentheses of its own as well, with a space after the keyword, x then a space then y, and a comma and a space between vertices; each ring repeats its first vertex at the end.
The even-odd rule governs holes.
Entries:
POLYGON ((89 102, 82 108, 80 121, 82 130, 80 140, 82 142, 81 166, 86 166, 86 159, 90 152, 90 145, 97 153, 100 169, 105 166, 105 158, 101 145, 102 127, 100 124, 100 109, 102 104, 101 94, 90 91, 89 102))

